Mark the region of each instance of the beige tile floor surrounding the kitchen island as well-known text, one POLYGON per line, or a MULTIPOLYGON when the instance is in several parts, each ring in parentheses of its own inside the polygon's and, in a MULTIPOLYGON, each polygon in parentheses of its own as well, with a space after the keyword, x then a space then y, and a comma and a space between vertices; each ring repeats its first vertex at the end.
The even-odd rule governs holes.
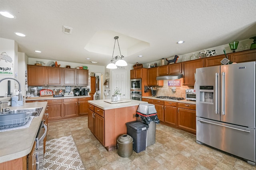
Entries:
POLYGON ((88 117, 50 122, 47 140, 72 135, 86 170, 256 170, 244 160, 197 144, 196 136, 156 125, 156 143, 122 158, 108 152, 88 129, 88 117))

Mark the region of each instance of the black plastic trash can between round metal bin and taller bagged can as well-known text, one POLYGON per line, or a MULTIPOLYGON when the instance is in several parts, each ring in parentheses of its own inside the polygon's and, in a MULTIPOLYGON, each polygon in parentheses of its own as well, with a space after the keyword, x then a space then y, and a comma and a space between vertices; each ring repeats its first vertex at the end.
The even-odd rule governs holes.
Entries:
POLYGON ((148 125, 140 121, 126 123, 127 134, 133 138, 133 150, 137 153, 146 150, 146 137, 148 125))

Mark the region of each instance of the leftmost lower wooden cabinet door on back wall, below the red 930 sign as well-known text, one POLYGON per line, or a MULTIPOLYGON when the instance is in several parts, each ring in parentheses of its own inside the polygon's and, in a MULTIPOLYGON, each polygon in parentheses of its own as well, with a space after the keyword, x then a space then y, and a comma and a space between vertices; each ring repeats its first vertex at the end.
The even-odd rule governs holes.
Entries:
POLYGON ((48 103, 48 119, 62 118, 62 103, 48 103))

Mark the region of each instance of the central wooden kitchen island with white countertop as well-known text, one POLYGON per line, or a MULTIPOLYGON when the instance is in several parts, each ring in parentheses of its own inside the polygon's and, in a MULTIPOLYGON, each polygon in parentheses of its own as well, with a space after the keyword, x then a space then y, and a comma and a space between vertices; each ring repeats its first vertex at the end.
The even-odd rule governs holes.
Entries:
POLYGON ((135 115, 139 104, 148 102, 123 99, 122 103, 110 104, 111 101, 106 101, 88 101, 88 128, 107 150, 113 150, 116 139, 127 134, 126 123, 137 120, 135 115))

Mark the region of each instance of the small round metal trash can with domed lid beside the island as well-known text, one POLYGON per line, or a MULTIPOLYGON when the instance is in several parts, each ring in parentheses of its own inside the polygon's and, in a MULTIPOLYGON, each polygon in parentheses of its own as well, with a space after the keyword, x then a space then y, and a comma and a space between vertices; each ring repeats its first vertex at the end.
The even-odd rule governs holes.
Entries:
POLYGON ((132 155, 133 139, 129 135, 121 135, 116 139, 116 148, 119 156, 127 158, 132 155))

